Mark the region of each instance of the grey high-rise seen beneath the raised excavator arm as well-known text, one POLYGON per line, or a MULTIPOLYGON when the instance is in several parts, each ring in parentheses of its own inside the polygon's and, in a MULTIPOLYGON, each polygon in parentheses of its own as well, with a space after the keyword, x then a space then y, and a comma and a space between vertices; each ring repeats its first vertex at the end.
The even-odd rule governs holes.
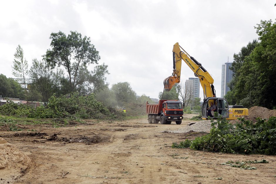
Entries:
POLYGON ((191 102, 194 102, 195 98, 199 98, 199 78, 189 78, 185 82, 185 91, 187 95, 191 95, 191 102))

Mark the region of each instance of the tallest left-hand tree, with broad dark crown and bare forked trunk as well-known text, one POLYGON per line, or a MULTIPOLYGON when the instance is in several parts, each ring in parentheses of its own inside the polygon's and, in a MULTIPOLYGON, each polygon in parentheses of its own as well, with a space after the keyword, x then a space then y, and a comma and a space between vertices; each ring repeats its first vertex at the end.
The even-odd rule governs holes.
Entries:
MULTIPOLYGON (((107 65, 96 66, 94 72, 87 70, 87 65, 98 64, 100 60, 99 52, 91 43, 90 37, 82 37, 76 31, 70 31, 66 36, 59 31, 51 33, 50 39, 52 48, 48 49, 43 57, 52 67, 56 65, 65 67, 71 92, 77 89, 83 91, 92 83, 94 88, 95 85, 99 89, 104 86, 102 81, 105 80, 104 75, 108 74, 107 65), (100 83, 97 83, 99 81, 100 83)), ((90 90, 88 87, 88 91, 90 90)))

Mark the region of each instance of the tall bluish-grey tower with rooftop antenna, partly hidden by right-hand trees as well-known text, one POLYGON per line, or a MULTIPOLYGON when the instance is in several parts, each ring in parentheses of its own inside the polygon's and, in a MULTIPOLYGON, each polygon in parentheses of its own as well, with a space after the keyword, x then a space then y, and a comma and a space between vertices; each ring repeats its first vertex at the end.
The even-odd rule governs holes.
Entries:
POLYGON ((221 97, 224 98, 225 94, 230 91, 228 86, 229 82, 232 80, 233 71, 230 70, 232 63, 225 63, 221 68, 221 97))

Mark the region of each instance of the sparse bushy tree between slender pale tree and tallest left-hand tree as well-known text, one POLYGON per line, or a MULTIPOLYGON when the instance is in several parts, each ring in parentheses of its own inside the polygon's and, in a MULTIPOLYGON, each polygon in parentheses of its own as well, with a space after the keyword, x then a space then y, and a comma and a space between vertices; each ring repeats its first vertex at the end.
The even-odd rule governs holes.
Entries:
POLYGON ((54 71, 47 62, 33 59, 30 77, 33 79, 32 93, 36 94, 35 91, 37 90, 41 94, 42 101, 46 106, 48 99, 60 87, 63 71, 61 69, 54 71))

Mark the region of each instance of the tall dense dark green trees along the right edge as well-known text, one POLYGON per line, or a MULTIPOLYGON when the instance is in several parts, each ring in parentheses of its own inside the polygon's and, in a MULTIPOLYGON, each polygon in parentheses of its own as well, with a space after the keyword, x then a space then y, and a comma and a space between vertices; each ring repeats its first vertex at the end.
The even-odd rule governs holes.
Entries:
POLYGON ((253 40, 240 53, 234 54, 231 70, 235 72, 226 99, 245 107, 276 107, 276 22, 261 21, 256 33, 260 42, 253 40))

